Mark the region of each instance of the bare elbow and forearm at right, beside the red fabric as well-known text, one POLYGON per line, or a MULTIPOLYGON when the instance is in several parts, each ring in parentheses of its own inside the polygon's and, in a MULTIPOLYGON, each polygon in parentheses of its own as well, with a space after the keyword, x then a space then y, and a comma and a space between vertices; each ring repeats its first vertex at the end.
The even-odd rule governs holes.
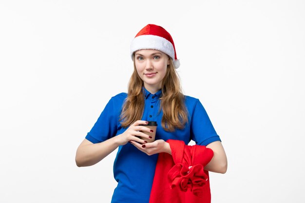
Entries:
POLYGON ((206 147, 213 150, 214 156, 209 164, 204 167, 204 169, 216 173, 226 173, 228 161, 225 149, 223 148, 221 142, 215 141, 206 147))

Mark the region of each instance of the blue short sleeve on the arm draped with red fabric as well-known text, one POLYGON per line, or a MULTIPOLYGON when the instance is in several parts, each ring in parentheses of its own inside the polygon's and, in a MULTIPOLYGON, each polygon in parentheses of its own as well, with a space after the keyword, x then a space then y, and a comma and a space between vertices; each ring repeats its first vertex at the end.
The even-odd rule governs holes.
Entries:
POLYGON ((195 102, 190 125, 191 139, 196 145, 207 146, 214 141, 221 141, 199 99, 195 102))

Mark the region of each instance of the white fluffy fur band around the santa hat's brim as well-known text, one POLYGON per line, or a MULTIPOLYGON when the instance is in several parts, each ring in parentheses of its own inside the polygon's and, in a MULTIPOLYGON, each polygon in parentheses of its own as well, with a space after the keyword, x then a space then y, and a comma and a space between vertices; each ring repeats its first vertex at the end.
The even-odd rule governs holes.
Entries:
POLYGON ((141 35, 135 37, 130 46, 130 54, 133 59, 133 52, 141 49, 159 50, 172 58, 175 61, 175 52, 172 43, 166 38, 155 35, 141 35))

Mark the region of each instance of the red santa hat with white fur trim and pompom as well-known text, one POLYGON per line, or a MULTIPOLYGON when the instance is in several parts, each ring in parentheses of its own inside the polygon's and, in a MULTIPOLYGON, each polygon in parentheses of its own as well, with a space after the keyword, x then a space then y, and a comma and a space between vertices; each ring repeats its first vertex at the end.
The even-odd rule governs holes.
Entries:
POLYGON ((161 26, 148 24, 140 30, 130 46, 132 59, 133 53, 140 49, 159 50, 172 58, 175 68, 179 68, 180 66, 172 36, 161 26))

